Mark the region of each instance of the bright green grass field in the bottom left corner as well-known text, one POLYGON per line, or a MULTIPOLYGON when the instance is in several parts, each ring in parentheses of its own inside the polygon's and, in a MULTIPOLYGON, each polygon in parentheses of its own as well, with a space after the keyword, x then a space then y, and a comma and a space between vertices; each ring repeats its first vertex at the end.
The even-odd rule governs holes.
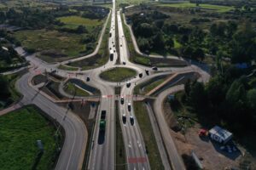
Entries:
POLYGON ((55 136, 55 127, 41 114, 41 110, 30 105, 0 116, 1 169, 32 169, 39 151, 37 140, 44 144, 37 169, 54 167, 62 136, 55 136))

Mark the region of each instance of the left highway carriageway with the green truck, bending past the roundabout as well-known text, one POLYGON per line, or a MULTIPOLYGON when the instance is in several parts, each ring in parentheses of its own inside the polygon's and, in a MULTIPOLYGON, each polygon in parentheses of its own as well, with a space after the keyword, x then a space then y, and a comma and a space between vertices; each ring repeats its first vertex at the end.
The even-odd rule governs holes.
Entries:
POLYGON ((102 67, 89 71, 91 81, 89 84, 101 90, 101 105, 96 116, 96 124, 93 135, 93 145, 90 149, 90 160, 88 169, 114 169, 115 168, 115 114, 114 114, 114 90, 113 87, 106 85, 99 74, 103 70, 112 68, 118 57, 115 42, 115 1, 113 0, 110 34, 108 38, 109 54, 113 54, 113 59, 108 59, 108 63, 102 67), (113 52, 115 51, 115 52, 113 52), (100 133, 101 112, 106 111, 105 133, 100 133))

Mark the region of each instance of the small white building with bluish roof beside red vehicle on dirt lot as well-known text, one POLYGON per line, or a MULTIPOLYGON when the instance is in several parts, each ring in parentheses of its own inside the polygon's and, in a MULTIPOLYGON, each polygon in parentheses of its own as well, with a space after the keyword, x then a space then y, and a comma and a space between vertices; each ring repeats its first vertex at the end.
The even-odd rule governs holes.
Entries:
POLYGON ((233 134, 221 127, 215 126, 209 131, 209 136, 212 140, 226 144, 232 139, 233 134))

